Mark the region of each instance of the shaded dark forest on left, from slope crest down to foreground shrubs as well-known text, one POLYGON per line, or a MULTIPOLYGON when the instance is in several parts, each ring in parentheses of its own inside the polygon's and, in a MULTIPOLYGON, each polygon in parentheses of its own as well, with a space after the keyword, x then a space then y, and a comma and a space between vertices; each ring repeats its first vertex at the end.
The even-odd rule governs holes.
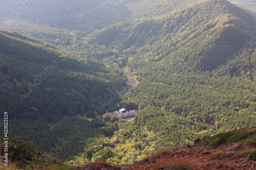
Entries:
POLYGON ((94 118, 103 112, 101 107, 120 101, 117 90, 124 79, 118 67, 110 69, 92 57, 61 52, 17 33, 0 31, 0 43, 0 110, 10 113, 13 135, 30 137, 44 151, 58 154, 59 159, 62 152, 69 153, 67 159, 82 148, 59 151, 59 140, 83 136, 84 142, 98 134, 113 133, 113 128, 100 130, 105 124, 97 118, 89 122, 70 117, 81 114, 94 118))

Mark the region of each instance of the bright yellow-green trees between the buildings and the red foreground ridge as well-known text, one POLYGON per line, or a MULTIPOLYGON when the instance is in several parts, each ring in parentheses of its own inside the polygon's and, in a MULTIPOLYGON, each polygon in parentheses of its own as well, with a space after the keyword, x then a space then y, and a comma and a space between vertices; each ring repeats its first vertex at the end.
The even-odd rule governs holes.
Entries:
MULTIPOLYGON (((114 122, 114 117, 105 121, 114 122)), ((195 138, 213 135, 216 129, 150 106, 140 110, 133 122, 115 122, 118 131, 111 138, 90 141, 68 163, 83 166, 94 161, 131 165, 161 148, 193 144, 195 138)))

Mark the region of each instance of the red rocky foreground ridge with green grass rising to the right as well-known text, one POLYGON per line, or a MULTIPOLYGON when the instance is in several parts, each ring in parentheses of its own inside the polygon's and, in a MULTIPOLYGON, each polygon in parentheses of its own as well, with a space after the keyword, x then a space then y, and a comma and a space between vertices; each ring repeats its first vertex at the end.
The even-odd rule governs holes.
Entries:
POLYGON ((195 145, 166 150, 159 155, 135 162, 133 166, 119 167, 104 162, 94 162, 76 170, 90 169, 256 169, 256 142, 247 142, 255 136, 256 127, 205 136, 196 139, 195 145), (227 134, 229 133, 229 134, 227 134), (246 134, 249 134, 246 136, 246 134), (225 139, 223 138, 225 136, 225 139), (238 136, 238 138, 235 138, 238 136), (239 139, 243 136, 243 140, 239 139), (227 142, 239 140, 238 143, 227 142), (215 143, 212 143, 215 141, 215 143), (211 144, 204 144, 211 143, 211 144), (244 144, 246 143, 246 144, 244 144))

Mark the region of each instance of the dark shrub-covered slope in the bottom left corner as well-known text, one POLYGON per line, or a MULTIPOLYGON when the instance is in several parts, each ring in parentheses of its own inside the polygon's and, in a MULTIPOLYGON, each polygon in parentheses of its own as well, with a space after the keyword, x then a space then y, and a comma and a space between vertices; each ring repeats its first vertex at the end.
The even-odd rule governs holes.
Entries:
POLYGON ((1 154, 1 169, 62 169, 72 170, 75 167, 64 164, 56 159, 46 155, 43 151, 37 149, 37 146, 29 140, 20 138, 8 137, 8 160, 3 160, 5 155, 4 137, 0 137, 0 154, 1 154), (4 164, 5 163, 5 164, 4 164))

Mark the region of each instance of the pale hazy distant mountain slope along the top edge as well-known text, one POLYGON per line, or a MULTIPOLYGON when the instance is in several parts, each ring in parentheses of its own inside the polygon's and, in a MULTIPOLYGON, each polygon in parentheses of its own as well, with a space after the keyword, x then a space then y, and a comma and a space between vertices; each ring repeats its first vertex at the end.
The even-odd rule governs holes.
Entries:
POLYGON ((3 1, 0 6, 0 20, 20 19, 61 29, 92 32, 121 21, 162 15, 199 1, 48 0, 25 4, 19 1, 3 1))

